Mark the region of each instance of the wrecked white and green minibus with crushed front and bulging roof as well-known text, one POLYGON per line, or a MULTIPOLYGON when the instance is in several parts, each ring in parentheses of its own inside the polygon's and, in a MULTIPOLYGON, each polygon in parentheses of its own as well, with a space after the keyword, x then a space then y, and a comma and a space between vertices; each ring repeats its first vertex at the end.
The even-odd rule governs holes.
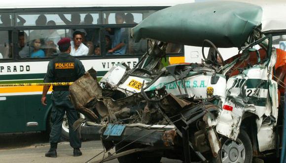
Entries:
POLYGON ((208 1, 153 13, 132 29, 148 48, 135 68, 116 64, 70 86, 74 123, 99 129, 104 158, 120 163, 251 163, 279 155, 286 70, 286 4, 208 1), (274 13, 275 12, 275 13, 274 13), (201 46, 203 63, 164 67, 167 42, 201 46), (236 47, 224 59, 219 48, 236 47), (205 49, 209 48, 208 53, 205 49), (115 147, 115 152, 110 149, 115 147))

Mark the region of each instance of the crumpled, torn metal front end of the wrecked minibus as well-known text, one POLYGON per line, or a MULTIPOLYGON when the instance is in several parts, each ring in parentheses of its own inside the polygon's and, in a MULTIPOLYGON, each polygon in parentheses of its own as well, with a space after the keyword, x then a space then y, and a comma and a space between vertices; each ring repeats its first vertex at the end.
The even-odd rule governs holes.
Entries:
POLYGON ((216 156, 220 149, 212 128, 219 109, 209 102, 213 99, 178 97, 167 93, 165 87, 126 96, 116 89, 102 88, 93 69, 74 82, 70 92, 75 108, 86 117, 75 122, 74 128, 86 121, 100 126, 107 152, 116 148, 116 154, 99 162, 118 157, 120 161, 124 155, 135 154, 139 162, 146 158, 154 160, 155 156, 186 160, 190 155, 194 155, 192 159, 206 161, 201 153, 216 156), (107 135, 108 124, 123 124, 125 128, 117 131, 122 132, 119 135, 107 135), (187 153, 183 156, 183 152, 187 153))

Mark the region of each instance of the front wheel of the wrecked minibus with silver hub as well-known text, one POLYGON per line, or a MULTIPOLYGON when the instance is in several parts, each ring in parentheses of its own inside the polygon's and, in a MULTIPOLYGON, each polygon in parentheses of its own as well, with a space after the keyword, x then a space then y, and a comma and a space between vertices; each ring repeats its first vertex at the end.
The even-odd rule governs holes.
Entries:
POLYGON ((216 163, 252 163, 252 145, 248 134, 240 130, 236 141, 222 139, 216 163))

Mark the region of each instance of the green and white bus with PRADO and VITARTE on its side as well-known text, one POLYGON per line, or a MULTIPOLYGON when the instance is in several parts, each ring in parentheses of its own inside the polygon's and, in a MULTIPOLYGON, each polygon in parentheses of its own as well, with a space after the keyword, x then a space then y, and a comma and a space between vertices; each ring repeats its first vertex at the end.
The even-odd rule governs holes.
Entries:
MULTIPOLYGON (((189 1, 177 0, 176 4, 185 2, 189 1)), ((83 43, 89 48, 87 54, 76 56, 85 70, 93 67, 101 78, 118 62, 133 68, 145 52, 147 42, 134 42, 128 37, 130 29, 151 13, 175 2, 140 0, 132 3, 115 0, 2 1, 0 83, 43 82, 48 62, 57 55, 57 41, 63 37, 72 39, 74 31, 82 32, 83 43), (119 12, 125 15, 122 24, 115 21, 119 12), (127 35, 123 54, 109 51, 114 39, 112 31, 116 28, 124 29, 127 35), (40 46, 36 46, 36 40, 40 46), (38 50, 44 56, 32 55, 38 50)), ((175 44, 170 47, 170 53, 183 56, 184 48, 175 44)), ((51 92, 49 90, 49 94, 51 92)), ((48 101, 47 106, 41 105, 41 93, 42 86, 0 87, 0 133, 48 130, 51 104, 48 101)), ((66 138, 68 131, 64 119, 63 136, 66 138)))

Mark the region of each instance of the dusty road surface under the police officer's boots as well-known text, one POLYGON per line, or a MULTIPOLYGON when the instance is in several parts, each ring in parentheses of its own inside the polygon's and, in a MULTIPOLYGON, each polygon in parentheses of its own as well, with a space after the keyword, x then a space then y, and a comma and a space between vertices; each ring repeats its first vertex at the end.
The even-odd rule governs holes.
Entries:
MULTIPOLYGON (((73 149, 69 142, 61 142, 57 149, 58 158, 46 158, 44 154, 49 148, 47 134, 35 132, 0 134, 0 163, 85 163, 103 151, 101 141, 85 141, 82 142, 81 148, 83 155, 73 157, 73 149)), ((89 163, 102 157, 103 155, 99 155, 89 163)), ((118 161, 112 160, 106 163, 118 163, 118 161)), ((162 158, 161 163, 181 163, 181 161, 162 158)))

